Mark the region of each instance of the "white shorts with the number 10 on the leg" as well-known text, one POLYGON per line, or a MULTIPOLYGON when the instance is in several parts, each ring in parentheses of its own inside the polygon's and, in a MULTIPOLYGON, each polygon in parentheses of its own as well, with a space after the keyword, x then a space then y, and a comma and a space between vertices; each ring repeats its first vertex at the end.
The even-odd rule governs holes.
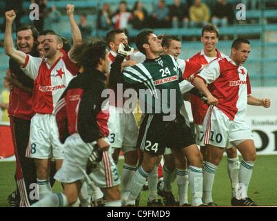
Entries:
POLYGON ((222 148, 236 146, 237 140, 253 140, 252 130, 245 121, 231 120, 216 106, 209 106, 204 123, 204 144, 222 148))

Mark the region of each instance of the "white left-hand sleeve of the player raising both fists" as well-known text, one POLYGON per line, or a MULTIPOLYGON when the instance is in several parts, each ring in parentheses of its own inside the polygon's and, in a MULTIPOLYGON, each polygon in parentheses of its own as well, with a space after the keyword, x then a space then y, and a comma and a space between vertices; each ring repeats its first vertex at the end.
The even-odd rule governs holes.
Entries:
POLYGON ((25 59, 25 64, 21 66, 21 70, 32 79, 36 79, 39 73, 39 66, 41 66, 42 58, 32 57, 27 55, 25 59))

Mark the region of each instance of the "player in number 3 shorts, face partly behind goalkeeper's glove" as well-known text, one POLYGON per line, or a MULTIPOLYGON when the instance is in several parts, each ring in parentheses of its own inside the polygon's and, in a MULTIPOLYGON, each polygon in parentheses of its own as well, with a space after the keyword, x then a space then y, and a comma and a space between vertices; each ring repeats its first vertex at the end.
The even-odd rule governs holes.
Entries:
MULTIPOLYGON (((112 64, 119 50, 119 44, 128 44, 128 39, 124 30, 115 29, 107 32, 106 40, 110 48, 109 58, 110 64, 112 64)), ((127 57, 121 66, 124 68, 126 66, 133 66, 134 64, 136 64, 136 61, 127 57)), ((124 154, 124 164, 121 174, 121 199, 122 203, 125 204, 127 196, 130 193, 130 184, 138 161, 136 140, 139 135, 139 129, 132 111, 128 111, 127 113, 123 108, 125 101, 123 97, 119 97, 121 95, 118 95, 118 86, 121 87, 122 84, 117 85, 109 82, 109 87, 114 90, 114 98, 116 100, 110 99, 110 119, 108 125, 110 130, 109 140, 114 151, 112 154, 114 162, 117 164, 121 150, 124 154)), ((119 90, 121 89, 119 88, 119 90)))

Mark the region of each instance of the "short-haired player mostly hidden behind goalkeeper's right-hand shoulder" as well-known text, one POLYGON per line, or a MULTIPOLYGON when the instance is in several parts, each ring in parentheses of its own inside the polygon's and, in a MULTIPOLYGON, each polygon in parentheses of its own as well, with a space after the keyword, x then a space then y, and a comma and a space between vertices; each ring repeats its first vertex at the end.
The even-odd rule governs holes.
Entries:
MULTIPOLYGON (((159 38, 159 37, 158 37, 159 38)), ((182 73, 185 68, 189 66, 189 62, 179 58, 181 54, 181 41, 178 37, 173 35, 163 35, 162 36, 162 46, 165 55, 172 55, 181 68, 182 73)), ((194 86, 188 81, 181 81, 179 84, 182 95, 189 93, 194 86)), ((181 114, 185 117, 185 122, 189 126, 189 118, 185 106, 181 107, 181 114)), ((159 195, 162 195, 166 206, 174 206, 176 204, 174 195, 172 194, 172 182, 176 177, 176 182, 178 185, 178 200, 180 206, 189 206, 187 199, 188 192, 188 171, 187 171, 187 159, 183 155, 173 156, 170 148, 165 148, 165 153, 163 153, 163 186, 158 190, 159 195), (174 157, 178 157, 178 165, 175 164, 174 157)))

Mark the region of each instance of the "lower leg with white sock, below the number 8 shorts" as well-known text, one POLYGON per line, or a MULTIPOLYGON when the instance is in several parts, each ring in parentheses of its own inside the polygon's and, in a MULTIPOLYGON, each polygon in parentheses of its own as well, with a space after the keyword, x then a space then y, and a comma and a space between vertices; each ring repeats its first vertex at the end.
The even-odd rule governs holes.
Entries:
POLYGON ((49 182, 50 159, 34 159, 37 168, 37 184, 39 186, 39 200, 52 193, 49 182))

